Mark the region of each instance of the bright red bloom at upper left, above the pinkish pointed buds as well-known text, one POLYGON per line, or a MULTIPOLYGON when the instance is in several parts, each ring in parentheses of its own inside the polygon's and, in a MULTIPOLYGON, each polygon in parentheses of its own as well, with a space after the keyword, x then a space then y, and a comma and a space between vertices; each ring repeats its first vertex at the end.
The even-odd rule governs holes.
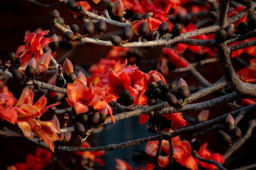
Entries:
POLYGON ((37 34, 28 33, 25 36, 25 45, 19 46, 15 53, 17 58, 21 58, 20 66, 27 64, 32 58, 35 58, 37 62, 39 61, 44 54, 44 47, 48 46, 49 42, 51 42, 49 38, 44 37, 48 32, 47 30, 38 32, 37 34))

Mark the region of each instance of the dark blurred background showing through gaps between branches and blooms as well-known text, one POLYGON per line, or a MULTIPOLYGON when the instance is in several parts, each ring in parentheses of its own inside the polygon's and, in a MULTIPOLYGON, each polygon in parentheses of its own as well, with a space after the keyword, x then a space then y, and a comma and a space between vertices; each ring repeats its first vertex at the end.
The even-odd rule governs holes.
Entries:
MULTIPOLYGON (((95 4, 91 3, 91 0, 88 0, 92 5, 92 8, 96 7, 95 4)), ((56 0, 41 0, 41 2, 52 4, 55 3, 56 0)), ((57 30, 53 26, 53 21, 50 18, 50 13, 52 10, 57 9, 60 12, 61 17, 64 18, 65 24, 72 26, 72 24, 78 24, 82 29, 83 22, 73 18, 73 16, 68 12, 65 4, 60 3, 58 6, 54 8, 43 8, 39 7, 27 0, 1 0, 0 5, 0 16, 1 16, 1 26, 0 26, 0 59, 3 63, 5 63, 5 57, 9 52, 14 52, 17 50, 18 46, 24 44, 24 34, 25 31, 29 30, 30 32, 34 32, 37 28, 41 27, 42 30, 50 30, 51 34, 57 34, 59 36, 64 37, 64 34, 57 30)), ((99 11, 102 11, 106 7, 106 2, 101 1, 97 8, 99 11)), ((114 26, 108 25, 109 31, 117 31, 120 30, 114 26)), ((64 38, 63 38, 64 39, 64 38)), ((57 60, 60 59, 65 53, 71 48, 72 45, 69 43, 61 42, 60 50, 57 54, 57 60)), ((73 48, 73 52, 68 55, 68 59, 70 59, 73 65, 79 64, 84 68, 88 68, 91 64, 98 62, 100 58, 104 58, 107 52, 111 49, 111 47, 100 46, 97 44, 83 44, 73 48)), ((157 59, 161 55, 162 47, 157 47, 155 49, 146 49, 141 48, 140 50, 144 51, 143 59, 157 59)), ((248 60, 248 59, 247 59, 248 60)), ((59 63, 62 64, 64 60, 61 60, 59 63)), ((136 65, 143 71, 147 72, 150 69, 155 69, 155 65, 143 64, 143 62, 137 62, 136 65)), ((234 66, 236 69, 240 68, 240 66, 234 62, 234 66)), ((208 64, 207 67, 203 67, 200 69, 200 72, 203 76, 205 76, 211 83, 216 82, 219 78, 222 77, 222 70, 219 67, 218 63, 208 64)), ((43 76, 42 81, 46 82, 49 75, 52 75, 52 72, 43 76)), ((169 76, 165 76, 167 83, 172 83, 176 78, 184 76, 183 73, 179 74, 171 74, 169 76)), ((195 86, 199 85, 197 81, 191 77, 186 77, 186 81, 188 85, 195 86)), ((7 83, 9 90, 14 94, 14 96, 18 99, 22 87, 18 84, 14 83, 12 80, 9 80, 7 83)), ((43 93, 35 93, 34 101, 42 96, 43 93)), ((213 95, 209 95, 195 102, 202 102, 206 99, 214 98, 213 95)), ((48 98, 48 104, 55 102, 53 99, 48 98)), ((63 101, 62 106, 67 105, 65 101, 63 101)), ((62 107, 62 106, 59 106, 62 107)), ((210 119, 215 118, 224 113, 225 106, 219 106, 217 108, 210 110, 210 119)), ((54 112, 52 110, 47 111, 47 115, 45 114, 42 119, 49 120, 52 119, 54 112)), ((185 116, 190 116, 196 118, 198 112, 193 113, 183 113, 185 116)), ((57 115, 57 117, 62 122, 64 115, 57 115)), ((69 122, 71 123, 71 122, 69 122)), ((10 127, 15 128, 15 127, 10 127)), ((92 146, 102 146, 107 144, 118 144, 121 142, 125 142, 127 140, 133 140, 137 138, 142 138, 146 136, 152 136, 155 134, 151 134, 146 131, 145 125, 138 124, 138 117, 129 118, 126 120, 117 121, 116 124, 109 124, 105 127, 101 133, 91 134, 89 136, 88 141, 92 146)), ((208 149, 212 153, 225 153, 225 151, 229 148, 228 146, 224 146, 220 144, 216 140, 216 131, 213 130, 207 135, 198 136, 201 141, 208 142, 208 149)), ((191 136, 183 135, 181 139, 186 139, 190 141, 192 139, 191 136)), ((74 134, 72 135, 72 146, 79 146, 78 140, 75 139, 74 134)), ((255 137, 253 140, 247 142, 245 147, 241 147, 235 154, 234 157, 238 155, 242 155, 245 153, 243 158, 239 158, 239 161, 232 161, 226 168, 238 168, 240 166, 246 165, 248 163, 255 162, 252 157, 248 157, 250 153, 255 152, 255 137), (251 158, 251 159, 250 159, 251 158)), ((106 169, 113 170, 115 165, 115 158, 120 158, 127 161, 132 167, 138 167, 139 164, 135 164, 131 160, 131 156, 133 153, 140 153, 141 150, 145 147, 146 144, 139 144, 136 146, 127 147, 118 151, 106 152, 104 156, 101 158, 105 162, 106 166, 101 167, 97 166, 98 169, 106 169)), ((36 145, 33 142, 28 141, 24 137, 3 137, 0 136, 0 151, 1 151, 1 159, 0 159, 0 169, 5 169, 6 166, 14 164, 15 162, 25 162, 26 155, 28 153, 35 154, 36 145)), ((254 155, 254 154, 253 154, 254 155)), ((64 166, 68 166, 71 158, 75 158, 76 160, 76 168, 82 169, 81 165, 79 165, 80 158, 73 152, 63 152, 55 150, 54 157, 61 160, 64 166)), ((51 167, 54 170, 62 169, 59 163, 54 163, 51 167)))

